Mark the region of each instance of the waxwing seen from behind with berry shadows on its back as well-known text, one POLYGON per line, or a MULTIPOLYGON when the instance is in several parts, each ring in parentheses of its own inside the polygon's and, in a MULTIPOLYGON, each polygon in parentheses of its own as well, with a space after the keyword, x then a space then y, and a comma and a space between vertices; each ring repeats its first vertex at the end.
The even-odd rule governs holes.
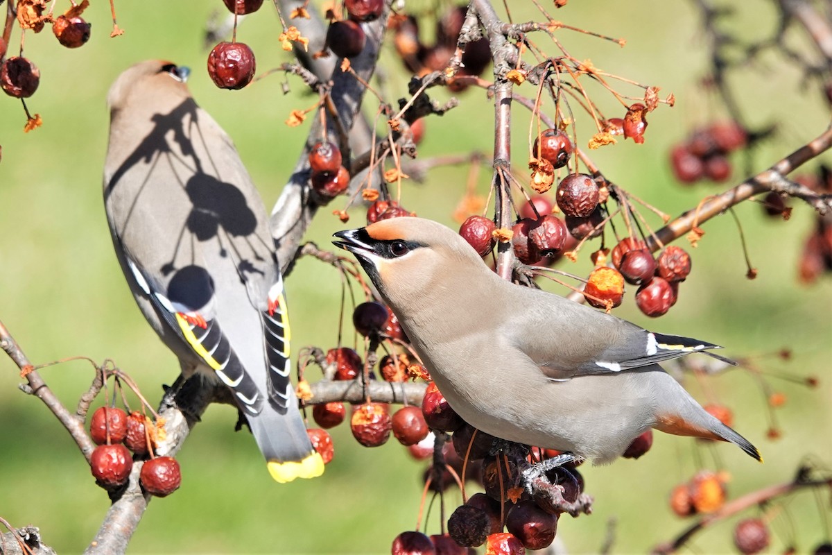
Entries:
POLYGON ((116 77, 103 194, 136 303, 182 376, 220 380, 279 483, 324 463, 290 381, 290 325, 265 206, 230 137, 197 106, 186 67, 116 77))

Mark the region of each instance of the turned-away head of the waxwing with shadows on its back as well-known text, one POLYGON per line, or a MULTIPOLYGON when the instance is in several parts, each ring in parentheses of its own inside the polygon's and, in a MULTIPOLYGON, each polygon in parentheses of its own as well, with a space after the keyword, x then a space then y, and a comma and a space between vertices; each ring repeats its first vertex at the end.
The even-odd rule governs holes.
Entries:
POLYGON ((146 60, 122 72, 113 82, 107 95, 111 114, 125 107, 134 99, 144 99, 149 105, 159 104, 164 97, 172 99, 190 97, 185 85, 191 70, 165 60, 146 60))

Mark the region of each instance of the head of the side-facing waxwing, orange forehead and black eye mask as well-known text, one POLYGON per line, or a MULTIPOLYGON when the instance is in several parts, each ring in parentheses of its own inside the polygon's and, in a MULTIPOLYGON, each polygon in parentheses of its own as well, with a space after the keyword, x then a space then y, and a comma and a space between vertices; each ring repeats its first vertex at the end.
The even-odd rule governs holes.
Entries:
POLYGON ((485 270, 483 260, 457 232, 423 218, 390 218, 334 235, 339 238, 334 245, 358 258, 379 293, 394 306, 401 295, 435 293, 466 268, 485 270))

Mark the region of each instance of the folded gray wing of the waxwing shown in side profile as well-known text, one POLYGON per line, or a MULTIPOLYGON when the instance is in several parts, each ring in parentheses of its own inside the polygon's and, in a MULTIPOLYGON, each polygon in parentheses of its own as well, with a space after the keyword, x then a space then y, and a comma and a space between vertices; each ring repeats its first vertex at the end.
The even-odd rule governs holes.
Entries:
POLYGON ((698 339, 656 334, 546 291, 515 287, 513 295, 525 310, 507 324, 510 333, 552 379, 620 372, 721 349, 698 339))

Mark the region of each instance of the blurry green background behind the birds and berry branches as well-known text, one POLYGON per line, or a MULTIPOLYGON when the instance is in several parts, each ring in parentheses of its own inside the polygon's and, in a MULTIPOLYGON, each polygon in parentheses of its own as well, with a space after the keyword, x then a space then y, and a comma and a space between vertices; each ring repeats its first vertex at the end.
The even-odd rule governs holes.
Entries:
MULTIPOLYGON (((59 2, 57 11, 66 3, 59 2)), ((535 17, 530 3, 510 3, 517 21, 535 17)), ((737 7, 735 28, 743 37, 759 37, 775 29, 772 3, 749 1, 737 7)), ((428 5, 412 7, 423 10, 428 5)), ((662 106, 651 113, 644 145, 626 141, 592 152, 609 178, 671 214, 721 191, 709 185, 677 186, 666 162, 669 146, 692 126, 725 117, 716 99, 700 85, 707 67, 707 41, 691 7, 692 2, 663 0, 574 1, 556 14, 571 25, 627 39, 627 46, 620 48, 559 31, 557 36, 574 57, 591 58, 597 67, 660 86, 662 94, 675 93, 675 108, 662 106)), ((178 365, 136 310, 106 230, 101 173, 107 88, 124 68, 148 57, 191 66, 190 86, 197 102, 234 138, 267 206, 280 194, 308 129, 289 128, 283 121, 291 109, 309 107, 313 99, 303 94, 298 82, 292 82, 293 92, 284 96, 279 76, 240 92, 220 91, 210 83, 202 32, 211 12, 225 15, 220 0, 121 2, 118 8, 119 24, 126 30, 121 37, 108 37, 109 7, 103 0, 94 0, 87 10, 87 20, 93 22, 92 39, 80 49, 61 47, 48 28, 41 35, 27 35, 26 55, 42 72, 29 107, 42 115, 42 128, 23 134, 25 116, 19 104, 10 97, 0 98, 0 320, 36 363, 71 355, 98 361, 111 358, 156 403, 161 384, 175 379, 178 365)), ((290 59, 280 49, 279 33, 270 2, 240 28, 239 38, 255 50, 261 72, 290 59)), ((18 37, 16 31, 12 43, 18 37)), ((546 37, 534 40, 555 53, 546 37)), ((799 34, 790 42, 805 48, 799 34)), ((10 51, 16 53, 17 47, 10 51)), ((404 96, 406 76, 400 64, 389 50, 384 59, 389 98, 404 96)), ((804 144, 829 120, 820 95, 801 85, 800 73, 773 55, 765 55, 731 83, 751 123, 778 122, 777 135, 757 153, 752 171, 804 144)), ((627 92, 626 87, 622 90, 627 92)), ((523 91, 534 94, 532 87, 521 87, 523 91)), ((623 115, 612 113, 619 109, 610 95, 600 89, 591 93, 610 116, 623 115)), ((434 94, 444 98, 443 92, 434 94)), ((462 100, 458 109, 427 122, 419 156, 491 150, 491 104, 481 91, 463 93, 462 100)), ((368 113, 376 107, 370 98, 368 113)), ((527 114, 518 109, 515 122, 515 148, 522 153, 527 149, 527 114)), ((585 122, 584 141, 589 129, 585 122)), ((825 157, 830 162, 830 156, 825 157)), ((740 159, 735 160, 734 181, 745 176, 742 166, 740 159)), ((483 191, 488 173, 481 176, 483 191)), ((434 171, 424 185, 406 187, 405 205, 420 216, 452 223, 465 178, 463 168, 434 171)), ((333 204, 333 208, 342 206, 341 201, 333 204)), ((360 209, 352 215, 350 225, 363 222, 360 209)), ((735 411, 735 428, 765 456, 765 465, 760 465, 730 445, 716 447, 733 476, 732 496, 789 480, 807 456, 827 465, 832 461, 832 285, 828 278, 812 287, 795 280, 802 242, 814 215, 798 204, 790 221, 773 221, 751 203, 740 206, 737 215, 759 270, 756 280, 744 277, 735 224, 730 217, 718 218, 704 226, 707 235, 693 252, 694 272, 682 285, 680 300, 670 314, 649 320, 637 312, 631 295, 617 311, 656 330, 724 344, 726 354, 733 356, 790 347, 795 356, 789 363, 761 357, 760 368, 820 379, 815 390, 772 380, 788 398, 777 411, 783 438, 775 442, 765 438, 769 425, 765 398, 750 374, 735 370, 708 382, 716 399, 735 411)), ((324 210, 309 239, 326 246, 331 233, 343 227, 324 210)), ((588 268, 583 261, 569 270, 585 273, 588 268)), ((301 260, 290 275, 287 289, 295 353, 301 345, 334 346, 338 284, 334 270, 312 260, 301 260)), ((42 374, 71 407, 92 379, 89 365, 80 362, 45 369, 42 374)), ((47 409, 17 390, 20 381, 16 367, 0 357, 0 516, 16 526, 39 526, 45 542, 61 553, 80 552, 101 523, 109 504, 106 494, 95 486, 87 464, 47 409)), ((692 380, 691 391, 707 400, 692 380)), ((394 441, 381 448, 360 448, 342 426, 334 430, 336 454, 323 478, 280 486, 271 482, 250 436, 234 433, 235 419, 235 411, 227 406, 207 411, 179 455, 181 489, 151 503, 131 542, 131 553, 385 553, 397 533, 414 528, 423 463, 412 461, 394 441)), ((686 528, 671 514, 668 493, 698 468, 713 468, 711 461, 711 453, 694 440, 656 434, 653 449, 641 460, 621 460, 602 468, 585 465, 587 489, 596 496, 595 511, 574 520, 562 518, 559 538, 571 553, 595 552, 602 545, 607 521, 617 518, 613 551, 646 552, 686 528)), ((458 493, 448 494, 450 506, 458 501, 458 493)), ((730 552, 732 522, 720 523, 697 538, 696 552, 730 552)), ((773 527, 776 545, 794 541, 800 551, 814 548, 825 534, 819 509, 807 493, 791 499, 773 527)), ((437 533, 438 528, 434 510, 428 533, 437 533)))

